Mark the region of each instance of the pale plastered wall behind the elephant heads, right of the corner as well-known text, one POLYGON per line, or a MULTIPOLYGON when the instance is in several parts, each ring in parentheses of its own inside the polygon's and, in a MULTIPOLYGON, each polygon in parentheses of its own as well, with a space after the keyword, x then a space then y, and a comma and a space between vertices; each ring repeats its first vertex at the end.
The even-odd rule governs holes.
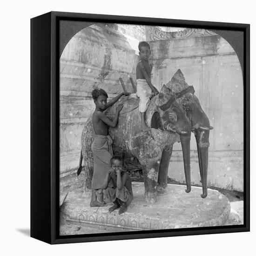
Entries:
MULTIPOLYGON (((180 68, 214 127, 208 184, 243 191, 243 76, 233 48, 219 35, 155 40, 150 46, 156 88, 180 68)), ((193 135, 191 150, 191 182, 201 185, 193 135)), ((174 146, 168 176, 185 182, 180 144, 174 146)))

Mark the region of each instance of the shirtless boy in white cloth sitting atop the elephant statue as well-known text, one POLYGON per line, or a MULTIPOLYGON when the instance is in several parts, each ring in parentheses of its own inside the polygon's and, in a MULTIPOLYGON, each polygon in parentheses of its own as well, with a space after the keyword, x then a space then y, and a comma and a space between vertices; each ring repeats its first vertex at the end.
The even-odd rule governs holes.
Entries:
POLYGON ((150 97, 158 94, 158 90, 151 83, 152 65, 148 63, 150 46, 147 42, 142 41, 139 43, 139 54, 141 60, 136 67, 136 83, 137 83, 137 96, 140 98, 139 111, 141 112, 141 130, 147 131, 149 128, 146 125, 145 113, 148 108, 150 97))

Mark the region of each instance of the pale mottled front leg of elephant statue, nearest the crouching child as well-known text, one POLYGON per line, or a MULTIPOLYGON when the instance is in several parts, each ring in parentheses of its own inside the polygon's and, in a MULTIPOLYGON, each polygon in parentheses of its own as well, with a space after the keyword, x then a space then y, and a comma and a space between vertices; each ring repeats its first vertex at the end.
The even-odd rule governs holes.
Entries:
MULTIPOLYGON (((141 161, 140 161, 141 162, 141 161)), ((149 203, 156 202, 157 199, 157 180, 160 165, 160 159, 144 161, 142 171, 144 175, 145 198, 149 203)))

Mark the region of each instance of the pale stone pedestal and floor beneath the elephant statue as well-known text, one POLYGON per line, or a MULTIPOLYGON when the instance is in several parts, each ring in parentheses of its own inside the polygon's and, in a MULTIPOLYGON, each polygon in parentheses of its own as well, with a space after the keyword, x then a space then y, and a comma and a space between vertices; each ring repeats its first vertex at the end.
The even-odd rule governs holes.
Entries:
MULTIPOLYGON (((159 196, 158 202, 154 204, 144 201, 142 182, 133 182, 133 191, 134 200, 122 215, 117 210, 108 213, 111 205, 90 208, 91 191, 76 189, 69 192, 61 207, 60 234, 178 229, 242 223, 237 211, 233 209, 232 218, 228 220, 231 216, 229 200, 213 189, 208 189, 207 198, 202 199, 202 188, 192 187, 187 194, 185 186, 169 184, 168 194, 159 196)), ((241 203, 239 205, 241 208, 241 203)))

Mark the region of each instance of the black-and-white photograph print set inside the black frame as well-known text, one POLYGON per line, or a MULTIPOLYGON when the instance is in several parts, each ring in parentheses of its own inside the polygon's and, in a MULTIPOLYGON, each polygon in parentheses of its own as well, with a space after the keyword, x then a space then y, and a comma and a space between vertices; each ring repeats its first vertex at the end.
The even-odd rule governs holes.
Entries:
POLYGON ((60 236, 242 225, 241 54, 203 27, 60 26, 60 236))

